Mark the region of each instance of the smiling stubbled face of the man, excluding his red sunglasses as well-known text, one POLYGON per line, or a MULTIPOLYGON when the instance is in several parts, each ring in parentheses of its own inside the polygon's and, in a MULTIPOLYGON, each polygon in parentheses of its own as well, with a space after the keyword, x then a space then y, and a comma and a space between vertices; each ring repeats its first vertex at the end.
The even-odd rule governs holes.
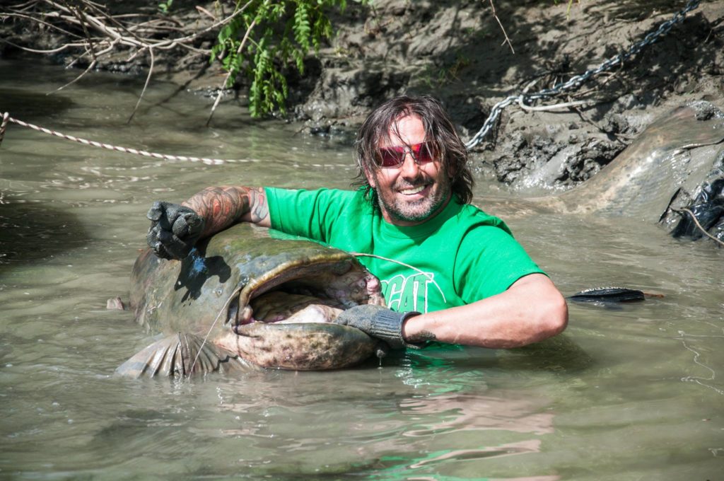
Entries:
MULTIPOLYGON (((420 117, 400 117, 390 127, 389 139, 379 148, 413 146, 425 141, 420 117), (395 128, 396 125, 396 128, 395 128)), ((369 185, 377 191, 382 217, 395 225, 418 225, 441 211, 450 200, 450 177, 440 159, 417 164, 410 149, 399 167, 380 167, 366 172, 369 185)))

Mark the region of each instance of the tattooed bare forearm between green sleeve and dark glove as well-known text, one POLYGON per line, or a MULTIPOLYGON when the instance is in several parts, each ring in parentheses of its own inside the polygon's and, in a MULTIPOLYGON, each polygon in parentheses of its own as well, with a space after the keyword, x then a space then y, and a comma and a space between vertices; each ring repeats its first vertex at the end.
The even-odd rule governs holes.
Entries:
POLYGON ((263 187, 209 187, 181 205, 190 207, 204 219, 206 227, 201 238, 214 235, 237 222, 271 226, 263 187))

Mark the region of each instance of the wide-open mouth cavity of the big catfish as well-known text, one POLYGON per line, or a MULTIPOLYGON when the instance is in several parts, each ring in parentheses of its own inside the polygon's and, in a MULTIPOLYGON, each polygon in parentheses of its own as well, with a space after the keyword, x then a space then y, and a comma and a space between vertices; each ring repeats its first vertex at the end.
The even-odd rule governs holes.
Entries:
POLYGON ((384 305, 379 280, 348 256, 303 259, 274 271, 240 288, 230 302, 227 322, 333 322, 352 306, 384 305))

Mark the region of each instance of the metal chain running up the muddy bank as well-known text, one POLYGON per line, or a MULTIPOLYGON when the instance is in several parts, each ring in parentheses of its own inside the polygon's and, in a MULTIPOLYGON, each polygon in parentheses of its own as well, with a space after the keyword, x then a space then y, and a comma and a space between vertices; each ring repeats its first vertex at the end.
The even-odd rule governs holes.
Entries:
POLYGON ((471 138, 468 143, 465 144, 466 149, 473 149, 473 147, 477 146, 479 143, 481 143, 481 141, 483 141, 483 138, 485 137, 485 135, 487 135, 487 133, 489 133, 490 130, 492 130, 495 121, 500 116, 500 112, 502 111, 502 109, 505 109, 505 107, 513 104, 513 102, 525 102, 544 99, 546 97, 555 96, 563 91, 572 90, 574 88, 580 87, 581 84, 583 84, 586 80, 589 80, 590 78, 599 75, 599 73, 601 72, 611 70, 613 67, 622 64, 629 57, 638 54, 639 51, 641 51, 641 49, 643 49, 645 46, 654 43, 660 37, 669 33, 669 30, 671 30, 673 25, 681 22, 684 17, 686 17, 686 14, 691 12, 691 10, 696 9, 696 7, 699 7, 699 3, 700 0, 689 0, 689 3, 686 4, 686 7, 684 7, 681 12, 676 13, 671 18, 671 20, 663 22, 661 25, 659 25, 659 28, 657 28, 657 30, 652 30, 651 32, 647 33, 643 40, 639 41, 638 43, 634 43, 633 46, 631 46, 631 49, 628 49, 628 51, 618 54, 615 57, 607 59, 594 70, 586 70, 586 72, 582 73, 581 75, 571 77, 566 82, 557 83, 551 88, 546 88, 536 93, 521 93, 519 95, 508 96, 502 101, 498 102, 490 110, 488 118, 485 120, 483 126, 478 131, 478 133, 476 133, 475 136, 471 138))

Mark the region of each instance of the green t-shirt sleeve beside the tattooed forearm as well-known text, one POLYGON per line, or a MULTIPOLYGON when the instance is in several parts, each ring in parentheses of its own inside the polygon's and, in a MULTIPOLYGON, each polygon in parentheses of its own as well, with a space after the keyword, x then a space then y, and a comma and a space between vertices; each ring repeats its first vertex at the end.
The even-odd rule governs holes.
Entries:
POLYGON ((328 242, 329 231, 344 203, 334 201, 337 191, 265 188, 271 227, 283 233, 328 242))

